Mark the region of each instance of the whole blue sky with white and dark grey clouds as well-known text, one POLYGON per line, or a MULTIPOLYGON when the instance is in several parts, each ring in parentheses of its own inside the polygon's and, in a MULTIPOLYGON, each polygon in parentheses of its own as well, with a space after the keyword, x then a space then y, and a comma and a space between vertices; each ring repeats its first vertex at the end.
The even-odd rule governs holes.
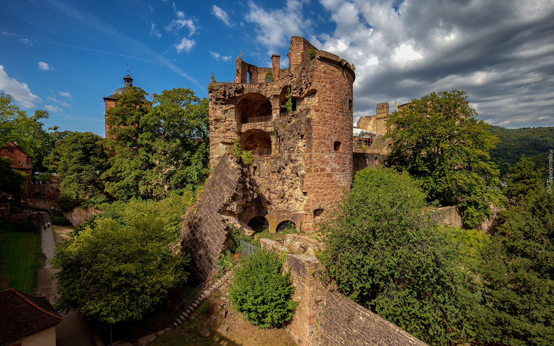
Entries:
POLYGON ((355 121, 459 89, 491 125, 554 126, 554 0, 3 0, 0 90, 46 127, 104 136, 127 68, 146 92, 207 97, 240 53, 288 67, 292 35, 355 64, 355 121))

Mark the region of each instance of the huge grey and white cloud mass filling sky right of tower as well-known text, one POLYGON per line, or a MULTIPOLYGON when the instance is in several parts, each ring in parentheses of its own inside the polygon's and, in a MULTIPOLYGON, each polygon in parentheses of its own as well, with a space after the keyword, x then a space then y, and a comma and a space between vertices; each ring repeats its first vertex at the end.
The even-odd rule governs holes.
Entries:
POLYGON ((493 125, 554 126, 551 0, 320 3, 336 25, 331 33, 313 35, 299 1, 275 11, 251 3, 246 18, 266 48, 286 49, 291 34, 303 34, 354 63, 355 116, 455 88, 493 125))

